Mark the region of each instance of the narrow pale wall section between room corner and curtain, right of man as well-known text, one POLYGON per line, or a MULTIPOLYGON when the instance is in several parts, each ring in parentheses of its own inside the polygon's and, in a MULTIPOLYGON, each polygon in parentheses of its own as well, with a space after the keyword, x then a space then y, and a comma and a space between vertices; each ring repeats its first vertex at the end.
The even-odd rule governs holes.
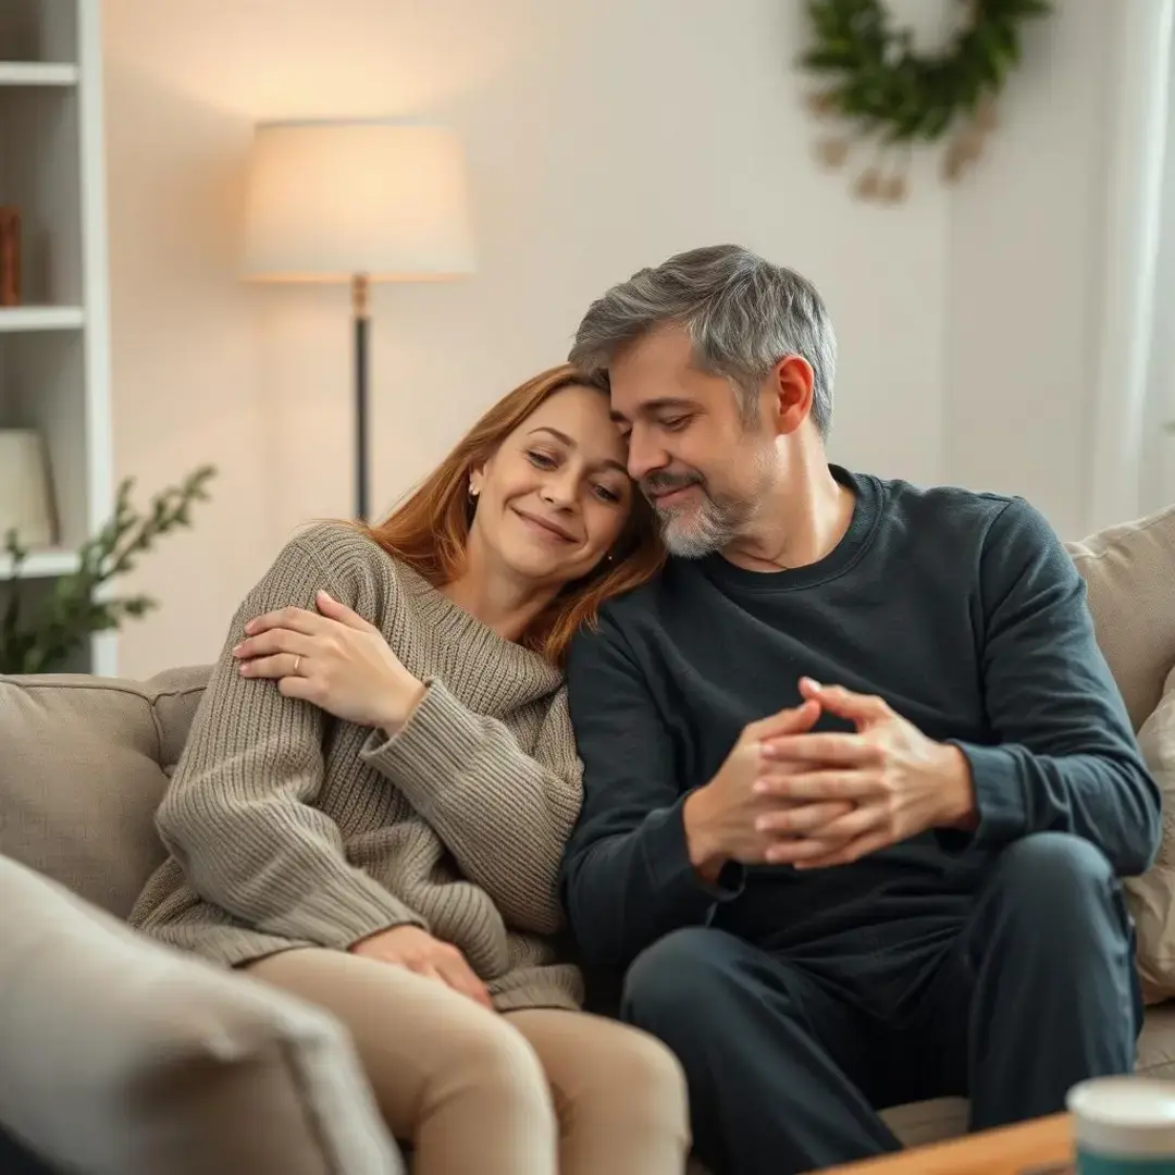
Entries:
POLYGON ((942 477, 1022 494, 1073 538, 1090 505, 1121 13, 1055 7, 1029 31, 1000 128, 951 197, 942 477))

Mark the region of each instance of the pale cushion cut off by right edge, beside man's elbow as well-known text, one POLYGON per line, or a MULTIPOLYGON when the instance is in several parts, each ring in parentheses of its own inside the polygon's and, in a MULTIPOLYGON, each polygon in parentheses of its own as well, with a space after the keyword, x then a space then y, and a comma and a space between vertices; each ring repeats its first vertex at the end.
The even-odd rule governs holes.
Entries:
POLYGON ((1139 731, 1139 745, 1163 793, 1163 839, 1155 864, 1124 882, 1139 935, 1139 975, 1148 1002, 1175 996, 1175 669, 1139 731))

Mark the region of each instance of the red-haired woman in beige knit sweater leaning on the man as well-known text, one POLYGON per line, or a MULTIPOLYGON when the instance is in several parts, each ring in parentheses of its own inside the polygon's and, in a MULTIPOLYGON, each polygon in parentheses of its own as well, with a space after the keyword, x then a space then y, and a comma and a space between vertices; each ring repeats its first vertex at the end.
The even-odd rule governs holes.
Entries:
POLYGON ((551 941, 580 804, 559 664, 662 560, 624 459, 562 367, 383 524, 295 538, 159 811, 132 922, 345 1022, 417 1175, 684 1168, 676 1061, 579 1012, 551 941))

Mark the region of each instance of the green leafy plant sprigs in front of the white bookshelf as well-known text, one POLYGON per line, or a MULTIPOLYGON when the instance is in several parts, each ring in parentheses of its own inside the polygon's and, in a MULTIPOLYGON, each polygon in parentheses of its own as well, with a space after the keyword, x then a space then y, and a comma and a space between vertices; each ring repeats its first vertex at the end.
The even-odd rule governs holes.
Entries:
POLYGON ((156 602, 147 596, 114 597, 105 589, 133 570, 156 538, 192 525, 192 504, 207 501, 206 485, 214 474, 212 465, 195 470, 179 486, 155 495, 146 515, 132 506, 134 481, 125 479, 119 485, 114 517, 78 552, 78 570, 61 576, 28 616, 20 591, 20 566, 28 552, 9 531, 5 550, 12 557, 16 582, 9 584, 7 604, 0 610, 0 673, 53 672, 95 632, 118 629, 127 617, 141 617, 155 607, 156 602))

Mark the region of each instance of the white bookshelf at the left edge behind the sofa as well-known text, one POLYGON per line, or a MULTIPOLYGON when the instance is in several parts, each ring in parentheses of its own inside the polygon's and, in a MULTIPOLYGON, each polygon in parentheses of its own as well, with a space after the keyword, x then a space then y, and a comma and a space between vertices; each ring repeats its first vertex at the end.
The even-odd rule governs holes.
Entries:
MULTIPOLYGON (((21 591, 51 591, 114 505, 100 0, 0 0, 0 204, 21 213, 21 306, 0 307, 0 428, 45 438, 58 543, 21 591)), ((0 555, 0 603, 13 590, 0 555)), ((78 669, 113 674, 116 643, 78 669)))

